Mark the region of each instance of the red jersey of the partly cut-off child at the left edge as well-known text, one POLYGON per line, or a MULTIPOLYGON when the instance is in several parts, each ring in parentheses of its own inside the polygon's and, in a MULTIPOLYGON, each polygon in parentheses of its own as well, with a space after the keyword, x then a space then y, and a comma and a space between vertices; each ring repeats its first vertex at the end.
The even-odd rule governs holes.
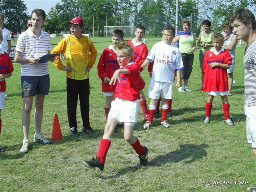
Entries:
MULTIPOLYGON (((1 50, 2 51, 2 50, 1 50)), ((0 74, 7 74, 13 72, 14 68, 12 66, 12 60, 8 53, 0 53, 0 74)), ((6 90, 5 80, 0 82, 0 91, 4 92, 6 90)))

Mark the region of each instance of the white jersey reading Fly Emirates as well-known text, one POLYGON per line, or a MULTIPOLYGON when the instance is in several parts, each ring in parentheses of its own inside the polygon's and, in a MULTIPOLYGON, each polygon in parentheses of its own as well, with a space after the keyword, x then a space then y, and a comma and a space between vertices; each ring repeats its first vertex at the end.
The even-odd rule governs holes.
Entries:
POLYGON ((179 49, 172 43, 167 45, 164 41, 154 44, 147 60, 154 61, 152 80, 172 83, 174 71, 183 69, 182 57, 179 49))

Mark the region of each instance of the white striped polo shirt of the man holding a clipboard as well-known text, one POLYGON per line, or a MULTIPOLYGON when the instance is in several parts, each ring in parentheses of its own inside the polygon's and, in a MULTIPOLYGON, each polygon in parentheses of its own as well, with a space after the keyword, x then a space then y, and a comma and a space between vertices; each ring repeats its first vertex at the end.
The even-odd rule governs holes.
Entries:
MULTIPOLYGON (((43 30, 39 38, 28 28, 18 37, 16 51, 22 52, 22 58, 38 58, 48 54, 51 50, 50 35, 43 30)), ((44 76, 49 74, 48 62, 34 65, 32 63, 22 64, 21 76, 44 76)))

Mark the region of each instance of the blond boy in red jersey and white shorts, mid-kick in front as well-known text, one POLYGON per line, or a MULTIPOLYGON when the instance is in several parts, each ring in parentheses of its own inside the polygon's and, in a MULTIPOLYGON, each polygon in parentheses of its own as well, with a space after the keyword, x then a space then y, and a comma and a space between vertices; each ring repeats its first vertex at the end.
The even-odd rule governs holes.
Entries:
POLYGON ((138 78, 139 66, 133 62, 133 49, 127 42, 118 45, 117 60, 120 69, 116 70, 109 84, 116 84, 115 100, 108 114, 104 135, 96 159, 84 160, 83 163, 98 171, 104 169, 106 155, 111 144, 111 136, 118 122, 124 122, 124 139, 139 155, 140 164, 146 166, 148 162, 148 148, 141 146, 138 138, 133 136, 134 125, 137 122, 140 98, 138 78))

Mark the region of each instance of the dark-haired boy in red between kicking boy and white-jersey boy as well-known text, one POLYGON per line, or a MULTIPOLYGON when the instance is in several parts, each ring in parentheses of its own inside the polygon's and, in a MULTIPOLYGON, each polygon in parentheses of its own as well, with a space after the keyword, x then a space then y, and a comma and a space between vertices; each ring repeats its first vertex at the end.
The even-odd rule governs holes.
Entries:
MULTIPOLYGON (((132 46, 134 51, 134 62, 140 67, 146 57, 148 56, 148 48, 142 38, 145 36, 146 29, 144 26, 137 25, 136 30, 134 32, 135 38, 133 40, 129 40, 128 43, 132 46)), ((140 92, 140 107, 143 111, 142 121, 146 121, 148 119, 148 107, 146 97, 143 93, 143 89, 145 87, 145 82, 142 78, 138 81, 139 84, 139 92, 140 92)))

